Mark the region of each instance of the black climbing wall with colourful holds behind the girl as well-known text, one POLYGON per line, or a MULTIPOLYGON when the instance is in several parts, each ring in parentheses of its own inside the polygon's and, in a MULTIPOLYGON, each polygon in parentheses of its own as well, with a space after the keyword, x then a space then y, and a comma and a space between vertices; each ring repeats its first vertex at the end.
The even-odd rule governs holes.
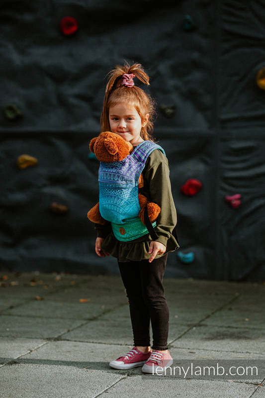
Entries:
POLYGON ((1 31, 1 270, 118 273, 94 253, 88 142, 127 60, 150 75, 170 164, 166 276, 265 278, 263 1, 8 0, 1 31))

